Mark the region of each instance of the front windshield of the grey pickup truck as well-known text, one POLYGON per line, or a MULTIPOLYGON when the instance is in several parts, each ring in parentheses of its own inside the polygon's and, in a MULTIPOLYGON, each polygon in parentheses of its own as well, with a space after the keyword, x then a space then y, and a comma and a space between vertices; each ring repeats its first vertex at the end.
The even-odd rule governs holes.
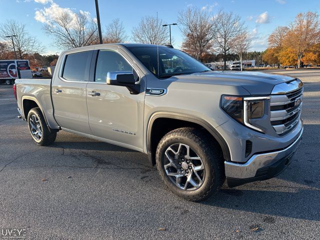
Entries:
POLYGON ((131 46, 127 48, 146 68, 158 77, 211 70, 178 49, 163 46, 131 46))

